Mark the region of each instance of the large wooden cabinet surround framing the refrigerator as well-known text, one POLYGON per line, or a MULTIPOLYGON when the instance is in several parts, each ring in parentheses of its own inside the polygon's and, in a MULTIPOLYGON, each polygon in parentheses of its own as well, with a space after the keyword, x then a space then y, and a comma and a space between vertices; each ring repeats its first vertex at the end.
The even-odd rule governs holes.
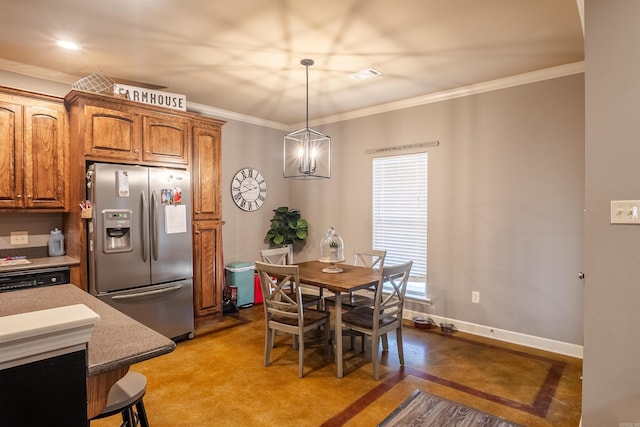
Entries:
MULTIPOLYGON (((65 97, 72 150, 71 197, 85 197, 84 174, 92 161, 166 166, 191 171, 193 289, 196 333, 222 318, 221 150, 224 121, 126 99, 71 91, 65 97)), ((87 277, 86 222, 72 210, 63 224, 67 253, 83 260, 87 277)), ((83 280, 83 282, 85 282, 83 280)))

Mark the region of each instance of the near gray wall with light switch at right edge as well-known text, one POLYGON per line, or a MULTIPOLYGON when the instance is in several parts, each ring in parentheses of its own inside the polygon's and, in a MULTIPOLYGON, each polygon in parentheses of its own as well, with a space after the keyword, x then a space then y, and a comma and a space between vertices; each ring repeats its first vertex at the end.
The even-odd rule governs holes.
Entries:
POLYGON ((583 425, 640 425, 640 228, 610 225, 640 199, 640 2, 585 2, 586 224, 583 425))

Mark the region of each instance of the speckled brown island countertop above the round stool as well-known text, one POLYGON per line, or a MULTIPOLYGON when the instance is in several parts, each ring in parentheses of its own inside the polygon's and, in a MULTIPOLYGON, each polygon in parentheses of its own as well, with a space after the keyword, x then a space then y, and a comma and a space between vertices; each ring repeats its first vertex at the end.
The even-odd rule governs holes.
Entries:
POLYGON ((74 304, 84 304, 100 316, 89 340, 87 370, 90 376, 170 353, 176 347, 164 335, 75 285, 0 293, 0 321, 2 316, 74 304))

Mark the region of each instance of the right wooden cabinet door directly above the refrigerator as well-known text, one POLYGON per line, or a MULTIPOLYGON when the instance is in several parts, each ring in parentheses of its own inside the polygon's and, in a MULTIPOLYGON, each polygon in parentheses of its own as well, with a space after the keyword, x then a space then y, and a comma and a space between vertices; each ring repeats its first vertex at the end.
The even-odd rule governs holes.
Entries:
POLYGON ((189 120, 168 114, 145 115, 142 158, 145 162, 189 164, 189 120))

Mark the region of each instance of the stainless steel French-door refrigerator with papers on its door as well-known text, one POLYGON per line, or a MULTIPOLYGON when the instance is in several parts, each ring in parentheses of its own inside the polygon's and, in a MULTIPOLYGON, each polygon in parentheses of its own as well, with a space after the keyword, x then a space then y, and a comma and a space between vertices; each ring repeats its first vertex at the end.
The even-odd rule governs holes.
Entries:
POLYGON ((168 338, 192 338, 189 173, 94 163, 87 190, 90 292, 168 338))

